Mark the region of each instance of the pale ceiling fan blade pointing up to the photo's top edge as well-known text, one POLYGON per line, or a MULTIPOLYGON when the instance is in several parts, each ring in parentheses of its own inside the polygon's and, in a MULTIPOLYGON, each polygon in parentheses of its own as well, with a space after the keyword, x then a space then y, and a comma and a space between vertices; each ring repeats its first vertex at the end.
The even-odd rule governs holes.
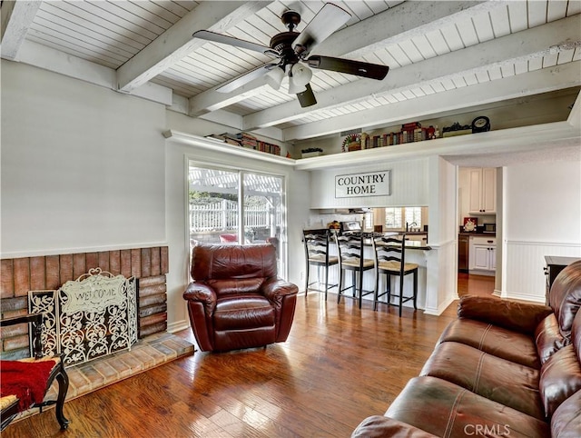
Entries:
POLYGON ((329 38, 340 26, 346 24, 350 17, 350 13, 345 9, 326 3, 294 40, 292 47, 297 55, 306 57, 315 45, 329 38))

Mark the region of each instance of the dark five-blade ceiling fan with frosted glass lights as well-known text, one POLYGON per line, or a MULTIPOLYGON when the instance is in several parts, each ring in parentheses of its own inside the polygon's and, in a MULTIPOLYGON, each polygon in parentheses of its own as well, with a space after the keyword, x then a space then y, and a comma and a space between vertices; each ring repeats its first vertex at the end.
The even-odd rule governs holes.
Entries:
POLYGON ((219 86, 216 91, 231 93, 231 91, 248 84, 262 75, 266 75, 267 83, 275 90, 278 90, 282 79, 287 75, 289 77, 289 93, 297 95, 300 106, 304 108, 317 103, 309 84, 312 76, 309 67, 377 80, 383 79, 388 74, 389 66, 387 65, 369 64, 330 56, 310 56, 313 47, 328 38, 340 26, 345 25, 350 17, 350 13, 339 6, 326 3, 302 32, 299 33, 295 32, 294 28, 300 23, 300 14, 296 11, 287 10, 281 15, 281 21, 287 26, 289 31, 274 35, 271 38, 270 47, 207 30, 194 32, 192 36, 214 43, 234 45, 279 58, 277 63, 261 65, 219 86))

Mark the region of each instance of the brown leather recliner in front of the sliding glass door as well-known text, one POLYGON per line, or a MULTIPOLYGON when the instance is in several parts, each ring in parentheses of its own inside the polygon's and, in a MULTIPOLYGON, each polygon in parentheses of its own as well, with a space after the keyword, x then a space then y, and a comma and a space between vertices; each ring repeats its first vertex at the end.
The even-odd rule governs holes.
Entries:
POLYGON ((299 289, 278 277, 274 246, 198 244, 191 274, 183 298, 203 352, 287 340, 299 289))

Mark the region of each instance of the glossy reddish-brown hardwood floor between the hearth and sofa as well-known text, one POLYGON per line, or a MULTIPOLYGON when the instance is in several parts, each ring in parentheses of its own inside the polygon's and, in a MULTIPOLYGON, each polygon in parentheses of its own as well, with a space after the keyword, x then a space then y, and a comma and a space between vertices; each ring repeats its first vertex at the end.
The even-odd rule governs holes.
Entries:
MULTIPOLYGON (((478 279, 475 279, 478 280, 478 279)), ((464 281, 459 279, 458 282, 464 281)), ((466 284, 471 283, 466 279, 466 284)), ((478 284, 478 285, 476 285, 478 284)), ((491 294, 494 278, 471 294, 491 294)), ((417 375, 456 316, 456 303, 431 316, 323 295, 300 296, 286 343, 231 353, 200 353, 166 363, 65 403, 2 433, 11 437, 326 437, 350 436, 386 411, 417 375)), ((193 342, 190 330, 179 333, 193 342)))

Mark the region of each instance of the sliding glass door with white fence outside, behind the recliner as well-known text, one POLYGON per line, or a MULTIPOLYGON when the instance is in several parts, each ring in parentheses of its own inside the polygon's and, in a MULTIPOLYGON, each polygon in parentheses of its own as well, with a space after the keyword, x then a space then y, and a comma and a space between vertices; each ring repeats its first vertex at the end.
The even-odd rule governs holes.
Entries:
POLYGON ((189 166, 190 244, 261 244, 277 248, 286 274, 284 177, 189 166))

